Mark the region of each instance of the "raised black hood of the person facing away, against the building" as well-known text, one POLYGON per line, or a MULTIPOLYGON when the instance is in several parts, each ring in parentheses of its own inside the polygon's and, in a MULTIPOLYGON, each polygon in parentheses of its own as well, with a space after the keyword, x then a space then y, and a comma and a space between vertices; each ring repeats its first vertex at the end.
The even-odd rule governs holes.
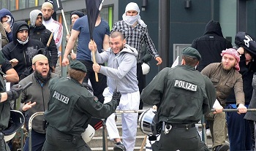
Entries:
POLYGON ((205 34, 217 34, 218 36, 222 36, 222 27, 220 26, 218 21, 210 20, 207 25, 203 35, 205 34))

